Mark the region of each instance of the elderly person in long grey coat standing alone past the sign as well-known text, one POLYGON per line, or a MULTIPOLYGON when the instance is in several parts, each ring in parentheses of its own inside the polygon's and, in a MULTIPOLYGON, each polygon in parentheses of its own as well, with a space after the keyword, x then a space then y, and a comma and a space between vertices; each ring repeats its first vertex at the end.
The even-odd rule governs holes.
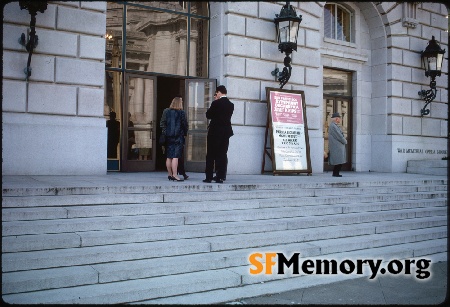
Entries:
POLYGON ((334 165, 333 177, 342 177, 339 172, 341 171, 342 164, 347 162, 345 151, 347 140, 339 127, 340 123, 341 115, 339 113, 333 113, 331 115, 330 126, 328 127, 328 148, 330 149, 328 164, 334 165))

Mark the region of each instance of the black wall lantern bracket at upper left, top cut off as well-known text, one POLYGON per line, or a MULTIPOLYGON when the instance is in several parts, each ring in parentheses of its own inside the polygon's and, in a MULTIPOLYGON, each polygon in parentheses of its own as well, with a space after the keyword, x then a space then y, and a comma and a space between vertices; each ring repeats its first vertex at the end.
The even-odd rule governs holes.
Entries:
POLYGON ((33 49, 36 48, 38 44, 38 36, 36 35, 36 15, 37 12, 44 13, 47 9, 47 1, 19 1, 20 9, 26 9, 31 15, 30 29, 27 29, 27 35, 25 33, 19 38, 19 43, 28 51, 28 62, 27 67, 24 69, 26 80, 31 76, 31 55, 33 54, 33 49))

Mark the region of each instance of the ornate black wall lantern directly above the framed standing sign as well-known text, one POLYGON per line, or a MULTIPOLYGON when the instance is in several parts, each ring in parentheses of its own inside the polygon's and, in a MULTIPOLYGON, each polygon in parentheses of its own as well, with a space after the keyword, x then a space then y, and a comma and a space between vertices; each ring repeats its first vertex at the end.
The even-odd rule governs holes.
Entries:
POLYGON ((276 68, 272 71, 272 76, 277 76, 280 88, 288 82, 291 77, 291 58, 289 55, 293 50, 297 51, 297 37, 302 16, 297 16, 295 9, 286 1, 286 5, 281 8, 280 14, 275 14, 275 26, 277 31, 278 50, 285 53, 284 68, 282 72, 276 68))

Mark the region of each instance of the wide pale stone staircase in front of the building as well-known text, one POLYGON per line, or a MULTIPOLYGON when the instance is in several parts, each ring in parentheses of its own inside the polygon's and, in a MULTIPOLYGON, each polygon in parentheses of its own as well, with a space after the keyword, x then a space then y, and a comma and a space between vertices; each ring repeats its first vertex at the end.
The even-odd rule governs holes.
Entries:
POLYGON ((347 278, 250 275, 254 252, 447 253, 442 177, 12 188, 2 196, 2 298, 12 304, 211 304, 347 278))

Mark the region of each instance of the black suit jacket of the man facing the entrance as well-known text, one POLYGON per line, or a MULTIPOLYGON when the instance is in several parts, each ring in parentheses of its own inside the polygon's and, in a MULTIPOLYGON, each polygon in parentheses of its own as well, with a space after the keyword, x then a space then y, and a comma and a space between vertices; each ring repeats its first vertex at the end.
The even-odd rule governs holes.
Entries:
POLYGON ((208 126, 208 134, 231 137, 233 135, 233 128, 231 127, 233 111, 234 104, 227 97, 214 100, 206 111, 206 118, 211 120, 208 126))

